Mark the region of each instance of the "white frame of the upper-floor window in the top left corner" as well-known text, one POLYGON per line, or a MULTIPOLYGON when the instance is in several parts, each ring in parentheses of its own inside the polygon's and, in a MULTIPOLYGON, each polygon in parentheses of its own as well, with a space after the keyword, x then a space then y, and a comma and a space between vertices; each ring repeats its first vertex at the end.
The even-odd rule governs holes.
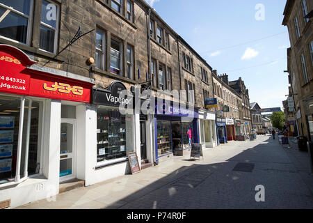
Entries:
POLYGON ((32 26, 32 24, 33 24, 33 0, 30 0, 30 1, 31 1, 31 3, 30 3, 30 7, 29 7, 29 15, 25 15, 24 13, 21 13, 18 10, 15 10, 14 8, 9 8, 8 6, 4 5, 3 3, 0 3, 1 7, 6 8, 6 10, 10 10, 13 13, 16 13, 17 15, 25 17, 28 20, 28 23, 27 23, 27 33, 26 33, 26 43, 22 43, 22 42, 19 42, 17 40, 13 40, 13 39, 5 37, 5 36, 0 36, 0 38, 6 39, 6 40, 10 40, 10 41, 12 41, 14 43, 19 43, 19 44, 22 44, 22 45, 27 45, 27 46, 30 45, 30 43, 31 43, 31 31, 32 31, 32 28, 33 28, 33 26, 32 26))

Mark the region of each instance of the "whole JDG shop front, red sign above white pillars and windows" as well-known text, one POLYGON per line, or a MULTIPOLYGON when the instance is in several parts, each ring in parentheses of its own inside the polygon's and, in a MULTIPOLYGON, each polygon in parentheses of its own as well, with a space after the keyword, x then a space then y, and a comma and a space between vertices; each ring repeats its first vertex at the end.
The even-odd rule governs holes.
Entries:
POLYGON ((0 45, 0 202, 10 207, 58 194, 81 178, 93 79, 35 65, 0 45), (79 128, 78 128, 79 126, 79 128))

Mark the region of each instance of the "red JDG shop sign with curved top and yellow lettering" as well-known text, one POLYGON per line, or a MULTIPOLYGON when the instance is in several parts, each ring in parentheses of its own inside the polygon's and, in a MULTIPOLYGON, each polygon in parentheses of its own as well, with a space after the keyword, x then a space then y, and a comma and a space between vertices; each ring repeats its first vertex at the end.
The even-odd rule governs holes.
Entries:
POLYGON ((0 45, 0 92, 90 103, 93 84, 28 68, 34 63, 21 50, 0 45))

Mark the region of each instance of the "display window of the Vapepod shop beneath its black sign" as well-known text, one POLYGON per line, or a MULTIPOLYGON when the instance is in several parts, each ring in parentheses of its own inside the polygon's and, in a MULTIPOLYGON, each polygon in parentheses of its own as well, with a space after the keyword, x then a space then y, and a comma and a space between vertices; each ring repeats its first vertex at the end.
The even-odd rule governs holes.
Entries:
POLYGON ((126 158, 134 151, 133 119, 118 109, 97 108, 97 162, 126 158))

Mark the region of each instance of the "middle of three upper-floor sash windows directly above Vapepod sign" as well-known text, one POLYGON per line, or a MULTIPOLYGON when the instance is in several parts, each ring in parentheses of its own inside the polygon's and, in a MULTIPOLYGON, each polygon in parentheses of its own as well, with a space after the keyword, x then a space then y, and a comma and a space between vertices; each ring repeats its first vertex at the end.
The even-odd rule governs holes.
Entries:
POLYGON ((122 41, 111 38, 111 73, 122 74, 122 41))

